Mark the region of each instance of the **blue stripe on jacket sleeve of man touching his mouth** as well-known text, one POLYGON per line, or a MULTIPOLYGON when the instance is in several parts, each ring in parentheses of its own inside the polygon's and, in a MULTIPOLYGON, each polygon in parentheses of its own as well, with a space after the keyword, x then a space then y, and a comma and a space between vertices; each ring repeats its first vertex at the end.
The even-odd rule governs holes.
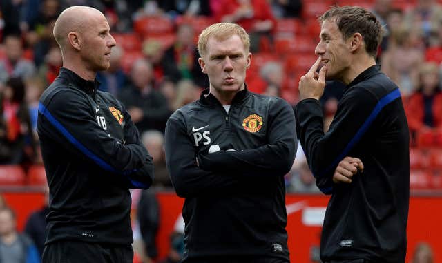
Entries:
MULTIPOLYGON (((365 131, 367 131, 367 129, 370 127, 370 125, 372 125, 373 121, 376 119, 376 117, 378 116, 379 112, 381 112, 383 107, 385 107, 385 105, 388 105, 392 101, 396 100, 396 98, 400 98, 400 97, 401 97, 401 92, 399 92, 399 89, 396 88, 392 92, 390 92, 389 94, 387 94, 386 96, 381 98, 381 100, 378 101, 378 103, 374 107, 372 113, 368 116, 367 120, 365 120, 363 125, 358 129, 358 131, 356 132, 356 134, 354 135, 352 140, 349 141, 348 145, 345 147, 343 152, 323 172, 315 175, 315 178, 321 178, 326 173, 329 173, 330 170, 334 169, 334 167, 336 167, 336 165, 338 165, 338 163, 341 160, 343 160, 343 158, 345 156, 347 156, 347 154, 354 147, 354 145, 356 145, 356 143, 358 143, 359 140, 361 140, 361 137, 365 134, 365 131)), ((329 189, 329 188, 321 189, 321 191, 323 191, 323 190, 329 192, 332 189, 329 189)))

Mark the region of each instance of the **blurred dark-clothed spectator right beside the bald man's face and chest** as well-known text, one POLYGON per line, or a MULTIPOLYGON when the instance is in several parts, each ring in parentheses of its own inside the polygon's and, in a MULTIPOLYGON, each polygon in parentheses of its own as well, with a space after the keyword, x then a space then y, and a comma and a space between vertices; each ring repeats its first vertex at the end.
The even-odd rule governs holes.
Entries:
POLYGON ((147 129, 164 131, 171 112, 167 100, 155 90, 153 68, 146 59, 137 59, 131 70, 131 84, 119 93, 119 99, 126 105, 133 123, 140 133, 147 129))

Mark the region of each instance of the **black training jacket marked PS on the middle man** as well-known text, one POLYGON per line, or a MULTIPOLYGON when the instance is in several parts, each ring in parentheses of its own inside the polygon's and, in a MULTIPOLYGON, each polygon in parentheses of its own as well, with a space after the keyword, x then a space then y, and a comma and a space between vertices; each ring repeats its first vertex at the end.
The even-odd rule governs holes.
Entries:
POLYGON ((296 154, 293 109, 281 98, 246 89, 227 113, 208 93, 178 109, 166 125, 166 165, 177 195, 186 198, 184 262, 288 259, 283 176, 296 154))

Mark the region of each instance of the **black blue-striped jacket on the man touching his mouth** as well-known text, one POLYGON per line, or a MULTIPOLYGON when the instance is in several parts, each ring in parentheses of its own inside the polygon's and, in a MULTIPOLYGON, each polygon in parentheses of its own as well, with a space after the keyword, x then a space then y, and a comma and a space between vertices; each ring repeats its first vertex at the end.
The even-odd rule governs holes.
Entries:
POLYGON ((300 101, 296 121, 316 184, 324 193, 332 193, 321 259, 404 262, 410 158, 398 87, 374 65, 347 85, 326 134, 317 100, 300 101), (334 170, 345 156, 360 158, 364 171, 351 184, 334 185, 334 170))

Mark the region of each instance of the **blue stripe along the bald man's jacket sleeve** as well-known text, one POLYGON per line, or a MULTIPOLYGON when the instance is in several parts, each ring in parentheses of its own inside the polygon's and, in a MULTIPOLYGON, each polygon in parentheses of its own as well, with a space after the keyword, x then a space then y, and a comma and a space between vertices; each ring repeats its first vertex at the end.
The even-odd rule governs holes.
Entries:
POLYGON ((54 116, 52 116, 52 114, 50 114, 50 112, 46 109, 46 107, 44 107, 44 105, 42 103, 39 103, 39 113, 41 115, 45 116, 49 120, 49 122, 52 123, 52 125, 54 125, 54 127, 58 131, 60 131, 61 134, 63 134, 63 136, 66 139, 69 140, 70 143, 72 143, 75 147, 77 147, 77 149, 79 149, 81 152, 83 152, 83 154, 88 156, 88 158, 92 159, 95 163, 97 163, 97 165, 99 165, 99 167, 102 167, 106 171, 111 171, 113 173, 119 173, 119 174, 124 174, 124 175, 127 175, 127 174, 135 171, 135 170, 133 170, 133 171, 117 171, 116 169, 111 167, 111 165, 109 165, 107 162, 102 160, 102 158, 99 158, 98 156, 93 154, 92 151, 89 151, 89 149, 84 147, 84 145, 82 145, 77 139, 75 139, 74 136, 72 134, 70 134, 69 131, 63 125, 61 125, 61 123, 59 123, 59 121, 56 120, 54 118, 54 116))

